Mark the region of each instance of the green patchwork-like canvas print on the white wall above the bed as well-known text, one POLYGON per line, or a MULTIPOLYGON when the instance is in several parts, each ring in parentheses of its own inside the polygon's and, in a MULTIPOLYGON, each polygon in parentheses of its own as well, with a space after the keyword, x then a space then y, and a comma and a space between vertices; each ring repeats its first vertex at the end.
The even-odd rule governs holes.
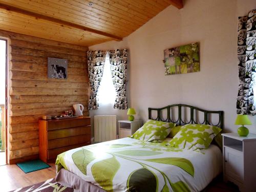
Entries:
POLYGON ((199 43, 164 50, 165 75, 200 71, 199 43))

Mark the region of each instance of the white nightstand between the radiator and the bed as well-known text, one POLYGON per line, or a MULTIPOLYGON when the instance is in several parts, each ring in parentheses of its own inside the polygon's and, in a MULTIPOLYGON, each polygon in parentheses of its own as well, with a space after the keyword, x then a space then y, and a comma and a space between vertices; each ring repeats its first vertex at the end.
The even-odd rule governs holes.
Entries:
POLYGON ((119 139, 133 135, 141 126, 142 120, 120 120, 119 124, 119 139))

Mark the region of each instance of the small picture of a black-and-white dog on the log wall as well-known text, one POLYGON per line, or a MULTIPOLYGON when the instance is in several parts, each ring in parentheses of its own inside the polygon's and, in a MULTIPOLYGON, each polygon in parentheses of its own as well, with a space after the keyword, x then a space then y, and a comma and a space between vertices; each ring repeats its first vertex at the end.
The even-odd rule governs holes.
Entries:
POLYGON ((47 77, 49 79, 67 79, 68 60, 48 57, 47 77))

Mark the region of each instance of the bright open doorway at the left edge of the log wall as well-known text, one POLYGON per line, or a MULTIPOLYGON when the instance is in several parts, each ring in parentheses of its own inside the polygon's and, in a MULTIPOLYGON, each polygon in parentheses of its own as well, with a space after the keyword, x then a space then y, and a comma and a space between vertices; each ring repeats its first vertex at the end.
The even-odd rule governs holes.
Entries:
POLYGON ((7 40, 0 39, 0 166, 6 164, 7 40))

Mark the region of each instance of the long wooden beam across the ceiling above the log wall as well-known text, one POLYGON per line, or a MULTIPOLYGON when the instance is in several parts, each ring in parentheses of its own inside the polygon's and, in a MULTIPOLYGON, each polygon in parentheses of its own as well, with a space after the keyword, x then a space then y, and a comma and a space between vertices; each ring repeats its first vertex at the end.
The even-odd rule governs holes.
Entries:
POLYGON ((103 31, 99 31, 99 30, 96 30, 96 29, 85 27, 85 26, 82 26, 82 25, 79 25, 79 24, 74 24, 74 23, 68 22, 66 20, 62 20, 62 19, 58 19, 58 18, 42 15, 42 14, 39 14, 39 13, 35 13, 35 12, 32 12, 32 11, 20 9, 20 8, 17 8, 17 7, 14 7, 14 6, 10 6, 10 5, 6 5, 6 4, 3 4, 3 3, 0 3, 0 9, 6 9, 8 11, 13 11, 13 12, 16 12, 16 13, 21 13, 21 14, 29 15, 29 16, 35 17, 36 19, 40 18, 40 19, 48 20, 50 22, 54 22, 54 23, 57 23, 57 24, 60 24, 60 25, 65 25, 65 26, 69 26, 69 27, 72 27, 72 28, 80 29, 80 30, 83 30, 83 31, 88 31, 88 32, 91 32, 91 33, 96 33, 98 35, 102 35, 102 36, 105 36, 105 37, 110 37, 113 40, 118 40, 118 41, 122 40, 122 37, 119 37, 119 36, 116 36, 116 35, 112 35, 110 33, 105 33, 103 31))

